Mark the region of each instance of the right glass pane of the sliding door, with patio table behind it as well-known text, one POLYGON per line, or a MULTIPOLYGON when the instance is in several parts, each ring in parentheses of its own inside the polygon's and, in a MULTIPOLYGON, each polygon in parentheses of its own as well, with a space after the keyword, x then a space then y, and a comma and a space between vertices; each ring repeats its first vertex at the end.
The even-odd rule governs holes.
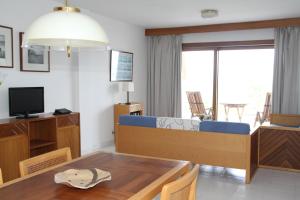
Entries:
POLYGON ((274 49, 219 52, 218 120, 254 124, 272 92, 274 49))

